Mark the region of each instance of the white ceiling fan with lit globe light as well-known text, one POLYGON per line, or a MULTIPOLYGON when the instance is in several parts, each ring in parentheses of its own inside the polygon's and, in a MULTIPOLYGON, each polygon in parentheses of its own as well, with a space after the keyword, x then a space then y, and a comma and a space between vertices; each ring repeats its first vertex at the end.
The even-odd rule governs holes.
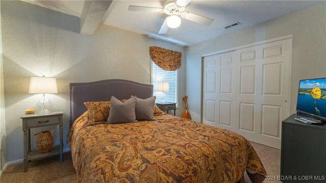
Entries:
POLYGON ((165 13, 168 16, 164 23, 162 24, 161 28, 159 29, 158 34, 165 34, 168 32, 170 28, 177 28, 181 24, 181 19, 178 15, 182 18, 194 21, 196 23, 201 23, 205 25, 210 25, 214 20, 196 15, 194 13, 185 12, 185 6, 189 4, 191 0, 177 0, 177 1, 166 1, 164 3, 163 8, 154 8, 154 7, 143 7, 143 6, 133 6, 129 5, 129 11, 145 11, 145 12, 157 12, 157 13, 165 13))

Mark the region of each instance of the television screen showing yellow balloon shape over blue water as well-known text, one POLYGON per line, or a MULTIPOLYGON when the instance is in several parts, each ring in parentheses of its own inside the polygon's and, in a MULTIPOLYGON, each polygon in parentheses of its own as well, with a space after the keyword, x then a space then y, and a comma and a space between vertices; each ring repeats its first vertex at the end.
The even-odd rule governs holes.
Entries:
POLYGON ((326 119, 326 78, 300 80, 296 110, 326 119))

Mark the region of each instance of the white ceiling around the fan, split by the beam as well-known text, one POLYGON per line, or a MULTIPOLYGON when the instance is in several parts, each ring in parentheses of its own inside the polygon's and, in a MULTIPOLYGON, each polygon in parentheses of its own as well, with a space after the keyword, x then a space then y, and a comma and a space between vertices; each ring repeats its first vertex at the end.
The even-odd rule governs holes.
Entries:
MULTIPOLYGON (((84 1, 24 1, 74 16, 82 14, 84 1)), ((271 20, 324 1, 199 1, 192 0, 186 12, 211 19, 209 26, 182 19, 180 27, 169 28, 167 34, 157 34, 167 17, 164 13, 128 11, 129 5, 162 8, 165 1, 117 1, 104 24, 170 41, 180 45, 193 45, 238 29, 271 20), (225 29, 235 22, 240 25, 225 29)))

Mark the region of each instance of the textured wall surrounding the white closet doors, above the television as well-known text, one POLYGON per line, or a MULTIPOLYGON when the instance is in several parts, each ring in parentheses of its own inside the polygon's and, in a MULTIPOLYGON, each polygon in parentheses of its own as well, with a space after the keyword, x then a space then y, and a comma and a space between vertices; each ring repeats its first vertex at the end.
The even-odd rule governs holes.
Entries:
POLYGON ((319 4, 187 48, 186 95, 189 110, 201 121, 201 55, 293 35, 290 113, 295 112, 300 79, 326 76, 326 4, 319 4))

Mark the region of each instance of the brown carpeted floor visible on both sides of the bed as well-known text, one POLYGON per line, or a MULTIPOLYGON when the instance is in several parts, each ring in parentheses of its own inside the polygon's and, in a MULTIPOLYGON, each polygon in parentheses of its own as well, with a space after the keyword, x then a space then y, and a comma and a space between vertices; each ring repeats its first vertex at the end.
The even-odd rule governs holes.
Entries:
MULTIPOLYGON (((281 151, 272 147, 252 142, 268 175, 280 175, 281 151)), ((29 171, 24 172, 23 163, 8 166, 0 177, 1 183, 14 182, 77 182, 70 153, 64 154, 64 162, 59 156, 33 161, 28 164, 29 171)), ((246 182, 251 182, 245 173, 246 182)), ((264 181, 272 182, 272 181, 264 181)), ((280 181, 273 181, 280 182, 280 181)))

